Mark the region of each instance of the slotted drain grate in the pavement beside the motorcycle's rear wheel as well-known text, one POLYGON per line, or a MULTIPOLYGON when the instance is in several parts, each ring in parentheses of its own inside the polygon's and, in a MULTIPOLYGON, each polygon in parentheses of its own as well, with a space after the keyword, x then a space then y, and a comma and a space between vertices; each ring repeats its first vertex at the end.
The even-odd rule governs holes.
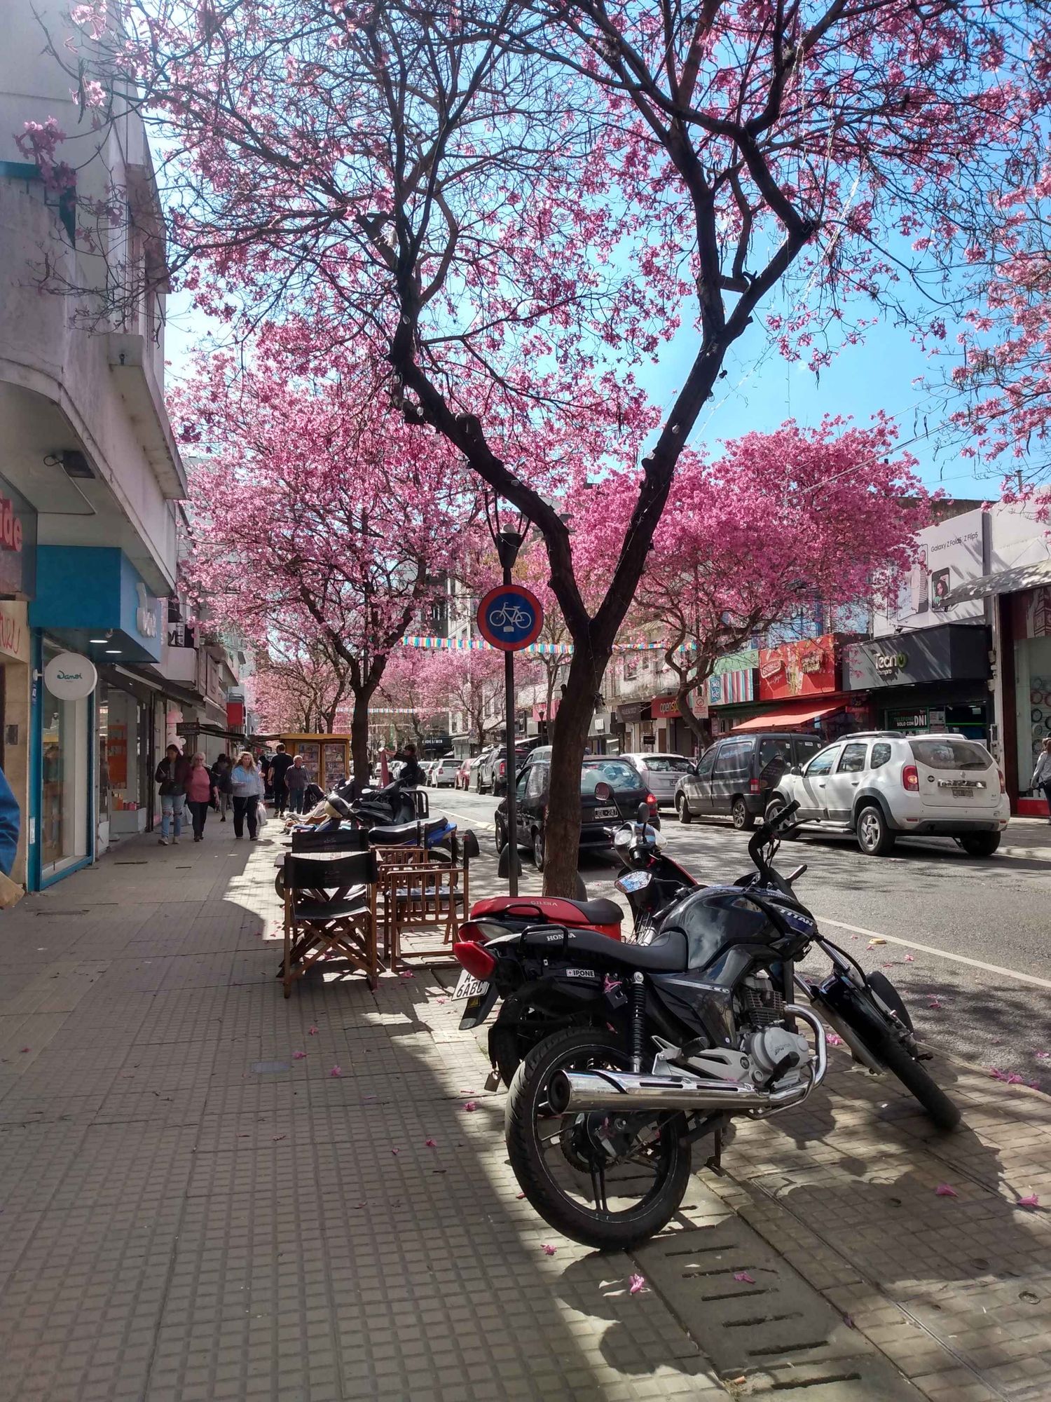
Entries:
POLYGON ((719 1375, 747 1396, 919 1402, 921 1394, 696 1180, 685 1224, 635 1255, 719 1375))

